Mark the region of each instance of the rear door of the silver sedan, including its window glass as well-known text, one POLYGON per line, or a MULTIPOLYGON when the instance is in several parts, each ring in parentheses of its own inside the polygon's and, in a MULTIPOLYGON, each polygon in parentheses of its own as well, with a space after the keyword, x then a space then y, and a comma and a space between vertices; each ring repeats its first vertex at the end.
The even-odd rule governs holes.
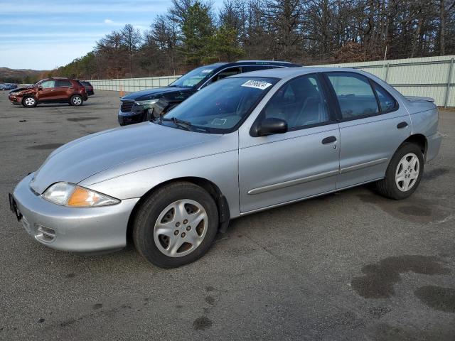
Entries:
POLYGON ((378 180, 410 135, 409 114, 383 87, 355 72, 325 72, 338 102, 340 175, 336 188, 378 180))

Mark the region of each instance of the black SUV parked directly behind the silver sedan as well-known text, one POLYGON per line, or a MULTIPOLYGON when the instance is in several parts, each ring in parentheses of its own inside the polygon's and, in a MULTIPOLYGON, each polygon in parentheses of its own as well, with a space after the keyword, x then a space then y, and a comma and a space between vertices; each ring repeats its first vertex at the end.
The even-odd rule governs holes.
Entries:
POLYGON ((178 78, 167 87, 127 94, 120 99, 119 124, 135 124, 150 119, 147 114, 165 114, 203 87, 231 75, 276 67, 299 67, 287 62, 240 60, 235 63, 216 63, 198 67, 178 78))

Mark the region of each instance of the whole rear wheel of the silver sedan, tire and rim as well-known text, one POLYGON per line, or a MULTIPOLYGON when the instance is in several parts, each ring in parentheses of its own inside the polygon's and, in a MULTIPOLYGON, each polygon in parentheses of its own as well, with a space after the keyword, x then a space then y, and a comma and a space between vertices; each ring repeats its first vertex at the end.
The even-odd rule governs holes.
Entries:
POLYGON ((405 199, 417 190, 423 171, 424 158, 419 146, 402 144, 392 157, 385 178, 378 181, 378 191, 395 200, 405 199))

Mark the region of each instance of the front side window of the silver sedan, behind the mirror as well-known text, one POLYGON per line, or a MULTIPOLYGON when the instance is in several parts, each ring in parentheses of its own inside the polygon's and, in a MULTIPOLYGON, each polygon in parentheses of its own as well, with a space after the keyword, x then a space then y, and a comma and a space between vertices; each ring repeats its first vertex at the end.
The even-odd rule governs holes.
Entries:
POLYGON ((267 103, 265 118, 284 119, 289 130, 330 121, 318 77, 306 75, 287 82, 267 103))

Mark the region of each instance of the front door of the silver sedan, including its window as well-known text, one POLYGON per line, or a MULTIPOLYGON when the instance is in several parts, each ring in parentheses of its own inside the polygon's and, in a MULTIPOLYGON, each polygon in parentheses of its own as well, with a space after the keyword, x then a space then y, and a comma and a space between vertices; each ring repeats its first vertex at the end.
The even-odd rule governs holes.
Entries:
POLYGON ((252 136, 242 126, 240 212, 336 189, 340 134, 323 92, 319 75, 296 77, 274 93, 255 121, 284 119, 287 133, 252 136))

